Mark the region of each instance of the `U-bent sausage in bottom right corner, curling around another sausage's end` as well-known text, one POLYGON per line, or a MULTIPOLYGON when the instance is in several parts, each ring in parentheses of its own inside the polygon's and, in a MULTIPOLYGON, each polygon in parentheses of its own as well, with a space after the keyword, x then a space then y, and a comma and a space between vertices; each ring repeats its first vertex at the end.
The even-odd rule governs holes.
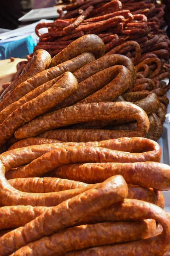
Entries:
MULTIPOLYGON (((144 201, 125 199, 123 202, 113 204, 107 209, 102 209, 92 215, 88 215, 82 223, 97 223, 103 221, 136 221, 152 218, 163 227, 163 232, 152 238, 143 239, 131 243, 92 247, 86 250, 78 250, 65 254, 65 256, 136 256, 139 253, 144 256, 162 256, 169 248, 170 238, 170 214, 160 207, 144 201)), ((81 222, 80 222, 81 223, 81 222)))

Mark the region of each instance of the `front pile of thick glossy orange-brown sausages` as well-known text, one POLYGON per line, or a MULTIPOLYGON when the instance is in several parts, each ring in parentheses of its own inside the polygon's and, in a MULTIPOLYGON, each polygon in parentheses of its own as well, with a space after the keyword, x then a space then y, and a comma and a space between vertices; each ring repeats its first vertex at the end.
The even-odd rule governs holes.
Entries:
POLYGON ((1 256, 164 255, 170 166, 147 138, 28 138, 0 154, 1 256))

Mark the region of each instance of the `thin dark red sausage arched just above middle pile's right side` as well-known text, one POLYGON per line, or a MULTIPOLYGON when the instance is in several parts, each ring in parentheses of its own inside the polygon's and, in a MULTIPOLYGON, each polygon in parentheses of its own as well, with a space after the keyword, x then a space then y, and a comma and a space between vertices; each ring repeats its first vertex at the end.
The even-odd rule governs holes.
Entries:
POLYGON ((134 58, 133 64, 137 65, 139 63, 139 61, 140 61, 140 58, 141 58, 141 47, 135 41, 127 41, 124 44, 116 46, 113 49, 111 49, 111 51, 107 52, 106 55, 114 54, 114 53, 118 52, 120 49, 122 49, 122 48, 124 48, 124 47, 126 47, 128 45, 133 45, 135 47, 136 54, 135 54, 135 58, 134 58))

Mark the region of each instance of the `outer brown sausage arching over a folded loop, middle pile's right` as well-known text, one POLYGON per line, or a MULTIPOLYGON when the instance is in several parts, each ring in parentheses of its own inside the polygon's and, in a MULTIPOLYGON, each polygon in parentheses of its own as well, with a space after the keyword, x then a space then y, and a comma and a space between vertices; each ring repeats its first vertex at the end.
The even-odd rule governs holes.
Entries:
POLYGON ((136 69, 133 66, 133 62, 130 58, 127 58, 126 56, 119 55, 119 54, 113 54, 113 55, 105 55, 101 58, 99 58, 96 61, 92 61, 89 64, 86 64, 84 67, 80 68, 76 72, 74 72, 74 76, 76 77, 77 81, 80 83, 83 80, 87 79, 90 76, 93 76, 99 71, 105 70, 108 67, 112 67, 115 65, 122 65, 125 66, 132 77, 132 84, 130 88, 133 87, 136 81, 136 69))

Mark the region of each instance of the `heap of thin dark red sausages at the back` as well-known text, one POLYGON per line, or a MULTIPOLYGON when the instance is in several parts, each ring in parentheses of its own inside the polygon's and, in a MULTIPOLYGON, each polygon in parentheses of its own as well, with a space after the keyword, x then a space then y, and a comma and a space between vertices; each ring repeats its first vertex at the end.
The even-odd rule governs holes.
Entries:
POLYGON ((69 4, 58 9, 59 19, 36 26, 40 42, 34 51, 45 49, 54 56, 76 38, 93 33, 102 38, 108 54, 123 53, 133 58, 134 46, 124 46, 133 40, 140 44, 142 57, 148 58, 150 53, 166 62, 170 40, 164 32, 164 8, 156 0, 86 0, 69 4), (43 27, 48 28, 48 33, 40 34, 43 27))

